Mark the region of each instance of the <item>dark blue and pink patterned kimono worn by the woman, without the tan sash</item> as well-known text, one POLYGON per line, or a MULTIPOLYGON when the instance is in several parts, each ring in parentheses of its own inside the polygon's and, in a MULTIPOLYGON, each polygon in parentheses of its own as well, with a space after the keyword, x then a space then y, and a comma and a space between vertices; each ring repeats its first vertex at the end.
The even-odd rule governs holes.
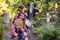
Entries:
MULTIPOLYGON (((22 15, 24 15, 25 16, 25 18, 26 18, 26 15, 25 14, 22 14, 22 15)), ((28 28, 29 27, 27 27, 26 25, 24 25, 23 26, 23 28, 25 29, 25 30, 21 30, 20 28, 16 28, 15 27, 15 25, 14 25, 14 21, 16 20, 16 19, 18 19, 18 18, 20 18, 21 19, 21 15, 20 15, 20 13, 18 13, 16 16, 15 16, 15 18, 14 18, 14 20, 13 20, 13 23, 11 23, 11 28, 10 28, 10 30, 11 30, 11 32, 12 32, 12 34, 13 35, 15 35, 16 33, 18 34, 18 40, 25 40, 25 38, 28 38, 27 37, 27 32, 28 32, 28 28), (18 31, 17 31, 18 30, 18 31), (25 34, 26 35, 25 35, 25 34)), ((23 20, 25 20, 25 18, 23 19, 23 20)))

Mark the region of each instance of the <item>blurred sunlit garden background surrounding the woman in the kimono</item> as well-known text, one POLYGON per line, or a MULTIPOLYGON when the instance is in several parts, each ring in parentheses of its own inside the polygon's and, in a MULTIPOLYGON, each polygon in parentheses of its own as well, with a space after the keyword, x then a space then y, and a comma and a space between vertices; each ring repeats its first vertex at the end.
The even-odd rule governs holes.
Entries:
POLYGON ((19 6, 24 6, 30 18, 31 40, 60 40, 60 0, 0 0, 0 40, 8 40, 10 23, 19 6))

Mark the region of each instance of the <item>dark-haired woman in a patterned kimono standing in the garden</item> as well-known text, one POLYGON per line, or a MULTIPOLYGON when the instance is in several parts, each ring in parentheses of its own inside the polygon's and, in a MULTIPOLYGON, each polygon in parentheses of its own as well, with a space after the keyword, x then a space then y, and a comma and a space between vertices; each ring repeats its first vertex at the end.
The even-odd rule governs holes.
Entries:
POLYGON ((11 23, 11 33, 14 36, 18 36, 18 40, 28 40, 27 37, 27 32, 30 31, 29 27, 26 27, 25 24, 25 18, 27 18, 27 16, 24 14, 24 7, 19 6, 18 8, 18 14, 16 14, 16 16, 14 17, 13 22, 11 23), (21 19, 20 22, 22 21, 23 27, 22 28, 17 28, 15 25, 15 22, 17 19, 21 19))

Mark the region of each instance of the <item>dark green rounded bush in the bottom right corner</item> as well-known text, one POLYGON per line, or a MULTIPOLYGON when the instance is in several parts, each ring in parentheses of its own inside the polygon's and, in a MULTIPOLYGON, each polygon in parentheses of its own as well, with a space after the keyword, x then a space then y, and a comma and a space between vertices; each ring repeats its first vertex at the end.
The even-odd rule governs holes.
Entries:
POLYGON ((44 34, 43 39, 44 40, 58 40, 58 32, 56 30, 48 31, 44 34))

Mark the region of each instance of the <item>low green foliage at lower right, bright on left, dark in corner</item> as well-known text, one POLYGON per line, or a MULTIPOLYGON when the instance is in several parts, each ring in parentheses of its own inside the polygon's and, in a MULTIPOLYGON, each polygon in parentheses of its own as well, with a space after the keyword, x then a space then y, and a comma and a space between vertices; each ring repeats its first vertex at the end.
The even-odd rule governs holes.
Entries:
POLYGON ((59 32, 57 30, 51 30, 51 29, 48 29, 48 27, 47 27, 47 30, 39 27, 33 27, 32 31, 33 33, 37 34, 36 40, 41 39, 40 35, 43 35, 42 36, 43 40, 59 40, 57 38, 59 36, 59 32))

